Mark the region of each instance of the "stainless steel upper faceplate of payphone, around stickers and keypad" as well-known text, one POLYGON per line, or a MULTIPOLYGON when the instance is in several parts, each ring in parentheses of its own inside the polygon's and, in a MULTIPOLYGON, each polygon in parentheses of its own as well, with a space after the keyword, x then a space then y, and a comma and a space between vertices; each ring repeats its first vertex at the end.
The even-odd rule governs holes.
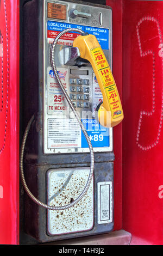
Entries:
MULTIPOLYGON (((60 107, 58 106, 58 114, 56 114, 56 111, 54 112, 54 108, 52 109, 51 107, 51 102, 54 100, 52 97, 52 91, 49 89, 49 80, 51 79, 51 77, 49 77, 49 72, 51 71, 51 65, 49 62, 49 58, 48 58, 48 53, 49 53, 49 47, 50 44, 47 41, 47 21, 48 20, 52 20, 52 21, 57 21, 57 22, 65 22, 65 23, 72 23, 74 25, 79 25, 79 26, 92 26, 92 27, 98 27, 98 28, 106 28, 109 29, 109 50, 104 50, 104 53, 106 55, 106 58, 109 61, 109 65, 110 67, 112 67, 112 13, 111 13, 111 9, 109 8, 99 8, 99 7, 94 7, 91 5, 85 5, 85 4, 78 4, 78 3, 73 3, 73 2, 64 2, 64 1, 50 1, 50 0, 45 0, 44 1, 44 7, 43 7, 43 13, 44 13, 44 17, 43 17, 43 22, 44 22, 44 82, 43 82, 43 87, 44 87, 44 96, 43 96, 43 151, 45 154, 57 154, 57 153, 86 153, 89 152, 89 148, 81 148, 80 144, 77 143, 77 141, 75 141, 75 137, 73 138, 73 143, 74 147, 69 147, 69 146, 65 146, 66 144, 66 140, 65 142, 59 143, 61 145, 61 147, 55 147, 55 145, 53 145, 53 142, 51 142, 51 138, 48 138, 49 135, 49 131, 48 131, 48 119, 59 119, 59 118, 74 118, 74 115, 71 111, 71 109, 69 108, 69 106, 67 105, 67 103, 64 101, 63 106, 64 106, 64 110, 63 110, 63 106, 60 107), (66 20, 55 20, 55 19, 49 19, 47 18, 47 3, 57 3, 57 4, 62 4, 66 6, 66 20), (87 13, 90 15, 87 15, 88 17, 81 17, 80 15, 77 16, 75 19, 72 19, 71 17, 69 17, 68 13, 70 10, 72 9, 77 9, 79 13, 87 13), (49 96, 51 95, 51 96, 49 96), (66 110, 65 110, 66 109, 66 110)), ((65 25, 66 28, 67 25, 65 25)), ((89 31, 88 31, 89 32, 89 31)), ((95 32, 96 33, 96 32, 95 32)), ((57 45, 57 52, 60 52, 61 48, 63 47, 63 45, 57 45)), ((82 66, 81 68, 78 68, 77 66, 73 66, 73 70, 84 70, 87 71, 87 75, 83 75, 83 71, 81 72, 81 74, 79 74, 77 72, 77 74, 71 74, 71 69, 72 66, 66 66, 62 63, 62 60, 60 59, 60 53, 59 56, 57 56, 56 59, 56 65, 58 67, 58 70, 60 72, 62 72, 62 74, 66 74, 65 75, 65 84, 67 86, 67 92, 70 93, 70 86, 69 81, 70 78, 74 78, 76 80, 87 80, 89 79, 90 84, 89 84, 89 103, 85 103, 84 100, 80 100, 81 102, 79 102, 78 100, 74 100, 74 106, 76 106, 77 111, 80 115, 80 117, 82 118, 82 113, 83 111, 85 112, 92 112, 92 108, 95 107, 96 102, 93 103, 93 79, 95 78, 95 75, 93 73, 93 70, 91 68, 90 64, 87 64, 86 66, 82 66), (94 104, 94 105, 93 105, 94 104)), ((54 87, 56 87, 55 84, 55 80, 54 82, 54 87)), ((71 84, 72 86, 72 84, 71 84)), ((80 98, 82 99, 82 97, 84 98, 84 84, 82 84, 83 87, 83 92, 79 92, 80 94, 83 94, 83 96, 81 96, 80 98)), ((53 88, 52 88, 53 89, 53 88)), ((77 89, 76 89, 77 90, 77 89)), ((59 94, 59 100, 62 99, 64 97, 64 95, 59 91, 59 88, 56 91, 59 94)), ((75 94, 77 94, 78 92, 76 92, 75 94)), ((76 96, 77 97, 77 96, 76 96)), ((59 121, 59 120, 58 120, 59 121)), ((60 122, 60 121, 59 121, 60 122)), ((78 123, 76 123, 76 125, 78 126, 78 123)), ((106 151, 112 151, 112 128, 109 129, 110 132, 110 146, 109 147, 96 147, 94 148, 95 152, 106 152, 106 151)), ((61 135, 62 136, 62 135, 61 135)), ((71 141, 71 136, 69 141, 71 141)), ((55 141, 55 139, 53 139, 53 141, 55 141)), ((71 143, 67 144, 70 145, 71 143)))

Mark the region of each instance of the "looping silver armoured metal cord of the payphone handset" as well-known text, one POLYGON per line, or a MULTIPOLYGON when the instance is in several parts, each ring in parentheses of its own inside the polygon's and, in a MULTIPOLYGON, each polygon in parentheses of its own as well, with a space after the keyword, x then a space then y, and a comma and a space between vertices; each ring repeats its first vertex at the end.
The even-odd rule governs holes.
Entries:
POLYGON ((73 103, 70 99, 70 97, 68 96, 64 86, 62 85, 61 81, 60 81, 60 78, 59 78, 59 75, 58 75, 58 72, 57 72, 57 68, 56 68, 56 65, 55 65, 55 60, 54 60, 54 54, 55 54, 55 46, 57 45, 57 42, 60 38, 60 36, 62 36, 63 34, 67 33, 67 32, 70 32, 70 31, 75 31, 75 32, 78 32, 80 34, 83 34, 85 35, 85 33, 81 30, 81 29, 78 29, 78 28, 68 28, 68 29, 65 29, 64 31, 60 32, 58 34, 58 36, 55 38, 55 40, 53 41, 53 44, 52 44, 52 47, 51 47, 51 50, 50 50, 50 60, 51 60, 51 65, 52 65, 52 68, 53 68, 53 71, 54 71, 54 74, 55 74, 55 77, 57 78, 57 81, 62 89, 62 92, 64 93, 65 97, 66 97, 66 100, 68 102, 68 104, 70 105, 75 117, 77 118, 78 120, 78 123, 84 133, 84 136, 86 138, 86 141, 89 145, 89 149, 90 149, 90 156, 91 156, 91 164, 90 164, 90 173, 89 173, 89 177, 87 179, 87 182, 86 182, 86 185, 85 185, 85 188, 83 190, 83 192, 79 195, 79 197, 77 199, 75 199, 72 203, 70 204, 67 204, 67 205, 64 205, 64 206, 51 206, 51 205, 47 205, 45 203, 42 203, 39 199, 35 198, 35 196, 32 194, 32 192, 30 192, 27 184, 26 184, 26 180, 24 178, 24 171, 23 171, 23 155, 24 155, 24 147, 25 147, 25 144, 26 144, 26 140, 27 140, 27 136, 28 136, 28 132, 30 130, 30 126, 32 125, 33 121, 34 121, 34 115, 32 116, 32 118, 29 120, 28 124, 27 124, 27 127, 26 127, 26 130, 24 132, 24 136, 23 136, 23 139, 22 139, 22 145, 21 145, 21 151, 20 151, 20 172, 21 172, 21 180, 22 180, 22 184, 23 184, 23 187, 24 187, 24 190, 26 191, 26 193, 28 194, 28 196, 38 205, 42 206, 43 208, 46 208, 48 210, 66 210, 66 209, 69 209, 71 208, 72 206, 74 206, 75 204, 77 204, 86 194, 87 190, 89 189, 90 187, 90 184, 91 184, 91 180, 92 180, 92 176, 93 176, 93 170, 94 170, 94 164, 95 164, 95 160, 94 160, 94 153, 93 153, 93 147, 92 147, 92 144, 91 144, 91 141, 90 141, 90 138, 89 136, 87 135, 87 132, 86 132, 86 129, 82 123, 82 121, 80 120, 79 116, 78 116, 78 113, 76 111, 76 109, 74 108, 73 106, 73 103))

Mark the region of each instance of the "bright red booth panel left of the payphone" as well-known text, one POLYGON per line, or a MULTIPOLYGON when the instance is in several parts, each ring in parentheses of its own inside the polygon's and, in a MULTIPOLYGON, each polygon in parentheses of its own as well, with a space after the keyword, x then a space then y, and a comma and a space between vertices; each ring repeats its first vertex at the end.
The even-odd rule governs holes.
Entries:
POLYGON ((19 9, 0 7, 0 243, 18 243, 19 9))

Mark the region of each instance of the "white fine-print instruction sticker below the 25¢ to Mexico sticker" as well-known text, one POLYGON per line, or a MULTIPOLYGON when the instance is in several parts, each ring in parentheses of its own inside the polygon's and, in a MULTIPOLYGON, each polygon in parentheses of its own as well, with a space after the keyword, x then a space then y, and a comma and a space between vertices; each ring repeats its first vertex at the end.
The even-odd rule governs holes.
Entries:
POLYGON ((68 118, 48 119, 48 148, 81 148, 78 121, 68 118))

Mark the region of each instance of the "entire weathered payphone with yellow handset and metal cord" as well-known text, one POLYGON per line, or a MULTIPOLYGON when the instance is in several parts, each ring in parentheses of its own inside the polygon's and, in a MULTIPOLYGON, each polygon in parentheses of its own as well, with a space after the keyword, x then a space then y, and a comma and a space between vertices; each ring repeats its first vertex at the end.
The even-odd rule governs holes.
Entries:
POLYGON ((111 36, 109 7, 23 6, 23 221, 40 242, 114 226, 112 126, 123 111, 111 36))

